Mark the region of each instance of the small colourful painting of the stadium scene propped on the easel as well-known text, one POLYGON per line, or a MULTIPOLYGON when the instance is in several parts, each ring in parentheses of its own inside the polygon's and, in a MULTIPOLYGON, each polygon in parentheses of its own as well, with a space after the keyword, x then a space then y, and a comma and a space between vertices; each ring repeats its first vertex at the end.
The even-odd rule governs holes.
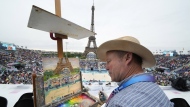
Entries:
POLYGON ((58 58, 43 58, 45 105, 60 101, 82 90, 81 74, 78 69, 63 68, 54 72, 58 58))

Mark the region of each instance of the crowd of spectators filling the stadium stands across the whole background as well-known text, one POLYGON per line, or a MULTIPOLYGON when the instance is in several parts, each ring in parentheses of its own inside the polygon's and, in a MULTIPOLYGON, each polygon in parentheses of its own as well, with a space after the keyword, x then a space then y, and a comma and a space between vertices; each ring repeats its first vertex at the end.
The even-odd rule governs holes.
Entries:
MULTIPOLYGON (((0 84, 31 84, 32 73, 43 72, 42 52, 17 48, 15 51, 0 50, 0 84)), ((45 55, 43 57, 55 57, 45 55)), ((155 55, 156 66, 167 67, 173 73, 165 74, 152 70, 159 85, 170 85, 170 78, 184 76, 190 78, 190 55, 175 57, 155 55)), ((99 60, 80 59, 81 70, 105 70, 106 63, 99 60)))

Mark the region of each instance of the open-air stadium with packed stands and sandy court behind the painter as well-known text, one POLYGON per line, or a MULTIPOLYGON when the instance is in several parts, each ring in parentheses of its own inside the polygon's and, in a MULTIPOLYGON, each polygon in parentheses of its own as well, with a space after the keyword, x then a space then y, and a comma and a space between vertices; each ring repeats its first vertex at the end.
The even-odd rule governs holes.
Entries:
MULTIPOLYGON (((56 52, 30 50, 19 46, 15 46, 15 50, 10 51, 5 46, 1 45, 1 47, 3 48, 0 51, 0 87, 5 92, 1 93, 4 96, 10 93, 21 95, 22 93, 32 91, 30 89, 32 88, 32 73, 43 73, 42 56, 43 58, 53 58, 54 60, 51 60, 51 62, 57 61, 56 52), (23 88, 23 91, 18 90, 18 87, 23 88)), ((189 102, 190 99, 187 96, 190 95, 190 92, 187 91, 189 90, 187 88, 190 87, 186 86, 184 89, 174 88, 172 87, 173 81, 171 80, 179 77, 190 80, 190 55, 176 54, 175 56, 168 56, 165 54, 155 54, 154 56, 156 66, 144 69, 145 72, 154 73, 157 84, 169 98, 184 96, 189 102)), ((106 63, 96 59, 95 54, 90 53, 86 59, 69 58, 69 60, 73 67, 80 68, 83 85, 90 89, 89 92, 92 95, 98 97, 98 91, 100 90, 110 93, 111 89, 117 86, 116 83, 111 82, 105 68, 106 63), (110 82, 111 84, 108 84, 110 82)), ((188 85, 189 83, 186 84, 188 85)), ((8 99, 10 98, 9 96, 7 97, 8 99)))

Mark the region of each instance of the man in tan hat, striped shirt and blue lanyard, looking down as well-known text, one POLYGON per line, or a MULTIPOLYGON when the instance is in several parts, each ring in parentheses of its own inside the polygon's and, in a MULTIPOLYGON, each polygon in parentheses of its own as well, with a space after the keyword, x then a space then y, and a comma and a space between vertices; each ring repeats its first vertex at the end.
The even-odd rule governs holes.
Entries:
POLYGON ((173 103, 143 68, 156 64, 153 54, 131 36, 110 40, 97 50, 98 58, 119 87, 113 90, 106 107, 173 107, 173 103))

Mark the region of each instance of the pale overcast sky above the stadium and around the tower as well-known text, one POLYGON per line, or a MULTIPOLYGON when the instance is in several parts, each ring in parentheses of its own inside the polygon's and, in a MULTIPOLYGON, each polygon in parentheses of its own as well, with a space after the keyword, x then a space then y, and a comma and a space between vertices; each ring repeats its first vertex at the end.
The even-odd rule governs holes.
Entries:
MULTIPOLYGON (((48 32, 28 28, 32 5, 55 14, 54 0, 1 0, 0 41, 57 51, 48 32)), ((61 0, 61 17, 90 30, 93 0, 61 0)), ((133 36, 152 52, 190 50, 190 0, 94 0, 96 44, 133 36)), ((88 37, 63 40, 63 51, 84 52, 88 37)))

